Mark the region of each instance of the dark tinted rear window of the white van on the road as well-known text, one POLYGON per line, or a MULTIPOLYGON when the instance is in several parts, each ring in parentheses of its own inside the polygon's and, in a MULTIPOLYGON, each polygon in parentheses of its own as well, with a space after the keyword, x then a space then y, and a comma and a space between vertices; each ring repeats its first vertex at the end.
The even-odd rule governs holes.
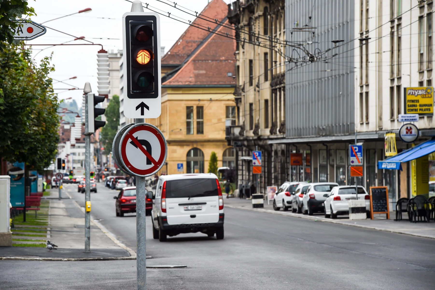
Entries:
POLYGON ((217 196, 216 179, 194 178, 168 180, 166 182, 166 198, 217 196))

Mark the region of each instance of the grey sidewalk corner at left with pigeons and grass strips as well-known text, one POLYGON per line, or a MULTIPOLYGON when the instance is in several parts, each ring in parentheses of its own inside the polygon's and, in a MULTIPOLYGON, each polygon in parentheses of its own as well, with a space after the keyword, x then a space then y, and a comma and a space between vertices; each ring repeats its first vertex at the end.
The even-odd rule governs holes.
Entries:
MULTIPOLYGON (((0 247, 0 260, 134 260, 136 253, 120 243, 104 226, 91 218, 90 253, 84 253, 84 210, 62 192, 63 199, 58 200, 58 190, 49 189, 48 226, 17 225, 12 232, 25 238, 38 236, 38 242, 50 240, 57 250, 45 247, 0 247), (28 230, 29 232, 25 232, 28 230)), ((44 196, 46 197, 46 196, 44 196)), ((28 214, 28 213, 27 213, 28 214)), ((14 235, 14 237, 20 237, 14 235)), ((14 242, 19 244, 20 242, 14 242)), ((29 242, 25 242, 29 243, 29 242)))

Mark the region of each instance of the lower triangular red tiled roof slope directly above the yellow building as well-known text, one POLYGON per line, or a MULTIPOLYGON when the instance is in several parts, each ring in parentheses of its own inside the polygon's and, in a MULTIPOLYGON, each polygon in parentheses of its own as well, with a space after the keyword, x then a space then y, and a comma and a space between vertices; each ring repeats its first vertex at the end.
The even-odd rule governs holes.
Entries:
MULTIPOLYGON (((222 2, 214 0, 213 2, 222 2)), ((225 19, 225 24, 229 24, 225 19)), ((189 27, 197 31, 200 29, 189 27)), ((219 34, 228 33, 234 37, 234 30, 219 26, 219 34)), ((208 33, 200 45, 191 53, 187 62, 173 76, 164 81, 162 85, 225 85, 234 86, 236 42, 234 39, 208 33), (230 73, 230 74, 229 74, 230 73)))

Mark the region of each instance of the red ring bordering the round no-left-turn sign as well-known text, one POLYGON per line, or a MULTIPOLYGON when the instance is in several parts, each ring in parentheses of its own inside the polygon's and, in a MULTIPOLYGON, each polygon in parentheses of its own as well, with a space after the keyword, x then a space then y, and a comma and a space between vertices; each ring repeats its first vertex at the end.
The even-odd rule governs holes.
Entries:
POLYGON ((121 145, 121 159, 122 159, 122 161, 127 166, 127 168, 135 174, 147 175, 147 174, 153 173, 154 171, 159 169, 159 167, 164 162, 164 157, 166 155, 166 146, 165 146, 164 139, 163 139, 162 135, 160 134, 160 132, 158 132, 155 128, 153 128, 151 126, 140 125, 140 126, 131 128, 130 130, 127 131, 127 134, 124 136, 122 143, 120 145, 121 145), (136 167, 131 165, 131 163, 127 159, 127 153, 125 152, 125 148, 126 148, 127 144, 130 142, 131 138, 134 138, 133 134, 138 132, 138 131, 151 132, 152 134, 154 134, 157 137, 157 139, 160 143, 161 151, 160 151, 159 159, 157 160, 157 164, 154 164, 154 166, 151 167, 150 169, 137 169, 136 167))

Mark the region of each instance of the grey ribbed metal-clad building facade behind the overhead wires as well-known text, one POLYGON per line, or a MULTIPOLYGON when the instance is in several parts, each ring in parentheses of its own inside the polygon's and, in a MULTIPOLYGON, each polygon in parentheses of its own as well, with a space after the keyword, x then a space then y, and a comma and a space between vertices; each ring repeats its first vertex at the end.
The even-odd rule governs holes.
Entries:
MULTIPOLYGON (((286 137, 346 135, 355 130, 355 7, 348 0, 286 0, 286 39, 335 57, 287 64, 286 137), (311 19, 310 19, 311 17, 311 19), (315 27, 315 28, 310 28, 315 27), (314 32, 314 34, 313 34, 314 32), (345 40, 335 44, 331 40, 345 40), (309 42, 313 42, 309 44, 309 42), (320 43, 315 43, 320 42, 320 43)), ((304 57, 301 49, 286 54, 304 57)))

